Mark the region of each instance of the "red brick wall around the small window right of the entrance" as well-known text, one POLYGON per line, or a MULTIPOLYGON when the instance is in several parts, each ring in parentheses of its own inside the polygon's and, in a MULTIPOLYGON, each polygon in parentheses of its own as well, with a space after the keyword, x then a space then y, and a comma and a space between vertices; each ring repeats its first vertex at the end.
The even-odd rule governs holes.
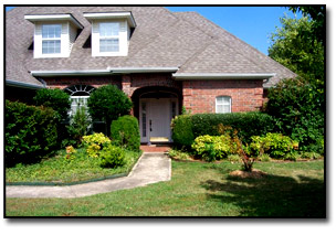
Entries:
POLYGON ((216 97, 230 96, 231 110, 259 110, 263 103, 262 81, 185 81, 183 106, 191 114, 216 113, 216 97))

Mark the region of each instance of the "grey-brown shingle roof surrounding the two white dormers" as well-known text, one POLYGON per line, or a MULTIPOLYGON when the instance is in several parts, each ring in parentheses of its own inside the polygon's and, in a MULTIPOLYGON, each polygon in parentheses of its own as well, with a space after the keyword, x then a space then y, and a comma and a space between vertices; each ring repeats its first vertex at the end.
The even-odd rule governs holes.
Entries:
POLYGON ((295 74, 196 12, 172 13, 160 7, 29 7, 7 12, 6 75, 31 84, 30 71, 81 71, 106 67, 179 67, 177 73, 275 73, 265 86, 295 74), (83 47, 91 23, 83 12, 132 11, 137 23, 128 56, 93 57, 83 47), (25 14, 71 13, 84 25, 67 58, 33 58, 28 50, 34 25, 25 14))

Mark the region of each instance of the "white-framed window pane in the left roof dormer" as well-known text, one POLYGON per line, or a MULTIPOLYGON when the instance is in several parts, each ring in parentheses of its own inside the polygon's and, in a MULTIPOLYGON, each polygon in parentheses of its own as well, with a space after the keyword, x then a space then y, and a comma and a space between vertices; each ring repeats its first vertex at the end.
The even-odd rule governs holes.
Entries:
POLYGON ((61 53, 62 24, 42 25, 42 54, 61 53))

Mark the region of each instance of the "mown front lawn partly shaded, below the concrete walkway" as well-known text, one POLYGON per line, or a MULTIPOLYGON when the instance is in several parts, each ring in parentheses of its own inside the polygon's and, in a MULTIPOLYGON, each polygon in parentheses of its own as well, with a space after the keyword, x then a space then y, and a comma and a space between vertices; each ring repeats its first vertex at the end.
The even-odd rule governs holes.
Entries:
POLYGON ((78 199, 7 199, 7 216, 324 217, 324 162, 258 162, 263 179, 229 177, 239 163, 175 162, 171 181, 78 199))

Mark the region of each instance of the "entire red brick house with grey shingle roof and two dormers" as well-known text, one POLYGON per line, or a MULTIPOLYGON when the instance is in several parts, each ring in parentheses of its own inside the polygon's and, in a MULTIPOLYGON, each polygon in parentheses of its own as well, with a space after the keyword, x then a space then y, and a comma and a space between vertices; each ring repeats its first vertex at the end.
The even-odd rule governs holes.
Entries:
POLYGON ((161 7, 20 7, 6 12, 6 98, 61 88, 76 105, 113 84, 134 103, 141 142, 169 141, 182 107, 252 111, 295 74, 196 12, 161 7))

